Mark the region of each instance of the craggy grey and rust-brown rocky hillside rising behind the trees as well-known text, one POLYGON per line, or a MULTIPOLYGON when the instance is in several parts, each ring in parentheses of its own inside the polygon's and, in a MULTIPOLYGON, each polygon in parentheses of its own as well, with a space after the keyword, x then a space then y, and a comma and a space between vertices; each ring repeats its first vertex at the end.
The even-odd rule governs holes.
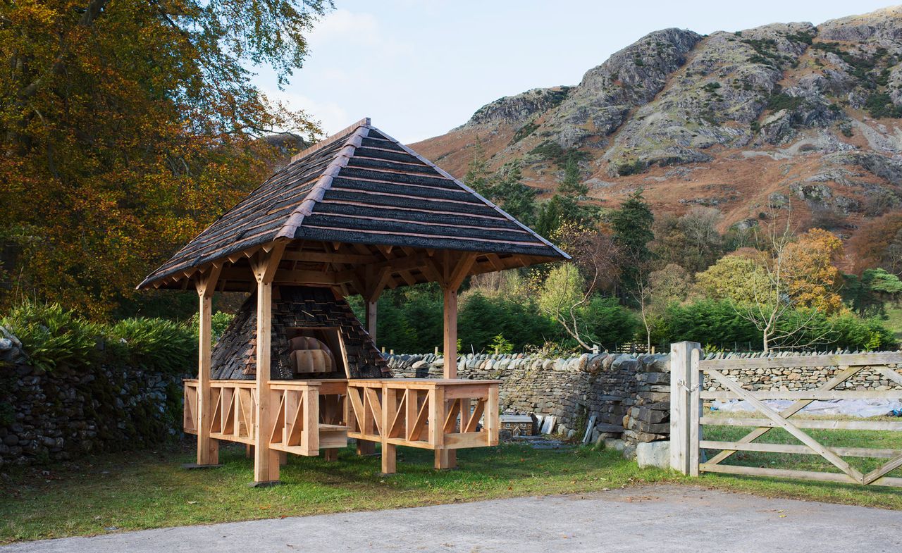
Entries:
MULTIPOLYGON (((717 207, 723 226, 791 207, 843 237, 902 206, 902 6, 813 25, 652 32, 573 87, 480 108, 412 147, 462 177, 479 141, 553 190, 580 161, 591 199, 642 187, 658 211, 717 207)), ((786 212, 786 211, 784 211, 786 212)))

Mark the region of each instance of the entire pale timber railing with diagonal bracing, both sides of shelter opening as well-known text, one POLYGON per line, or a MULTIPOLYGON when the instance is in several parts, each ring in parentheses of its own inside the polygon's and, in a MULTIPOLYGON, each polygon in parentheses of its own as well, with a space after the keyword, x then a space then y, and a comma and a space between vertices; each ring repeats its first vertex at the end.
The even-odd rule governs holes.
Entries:
MULTIPOLYGON (((185 380, 183 428, 197 434, 198 381, 185 380)), ((335 459, 347 438, 382 444, 382 472, 395 471, 397 446, 438 452, 498 445, 500 381, 387 378, 271 381, 276 410, 271 449, 335 459), (308 429, 317 428, 316 432, 308 429)), ((210 438, 256 443, 256 384, 210 382, 210 438)))

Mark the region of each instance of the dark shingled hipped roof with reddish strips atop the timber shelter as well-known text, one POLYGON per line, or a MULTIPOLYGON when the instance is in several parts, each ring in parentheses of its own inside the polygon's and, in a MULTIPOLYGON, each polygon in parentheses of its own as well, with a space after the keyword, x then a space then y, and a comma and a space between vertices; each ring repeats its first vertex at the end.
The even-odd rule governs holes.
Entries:
POLYGON ((279 239, 569 258, 367 118, 294 156, 138 287, 279 239))

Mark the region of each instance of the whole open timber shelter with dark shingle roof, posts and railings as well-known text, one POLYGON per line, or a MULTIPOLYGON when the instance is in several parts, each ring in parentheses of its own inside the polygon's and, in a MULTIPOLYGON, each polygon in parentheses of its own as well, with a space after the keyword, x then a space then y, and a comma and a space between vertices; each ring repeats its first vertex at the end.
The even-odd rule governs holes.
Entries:
POLYGON ((348 436, 381 442, 386 473, 397 445, 435 449, 436 467, 445 468, 456 447, 497 443, 497 382, 456 380, 457 290, 469 275, 563 259, 364 119, 294 156, 138 288, 198 291, 198 379, 186 382, 185 428, 198 435, 198 465, 216 465, 219 439, 253 445, 254 481, 265 484, 278 481, 284 453, 322 447, 334 457, 348 436), (272 378, 273 294, 360 294, 374 345, 382 290, 420 282, 437 282, 444 294, 444 379, 353 378, 341 333, 345 379, 272 378), (253 382, 211 379, 216 290, 255 291, 253 382))

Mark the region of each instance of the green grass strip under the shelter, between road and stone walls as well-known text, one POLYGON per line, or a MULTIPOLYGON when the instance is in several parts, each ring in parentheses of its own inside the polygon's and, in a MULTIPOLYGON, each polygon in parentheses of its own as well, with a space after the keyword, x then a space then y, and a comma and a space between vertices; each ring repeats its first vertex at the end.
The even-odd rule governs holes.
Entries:
POLYGON ((184 470, 188 445, 90 457, 0 481, 0 543, 221 521, 365 511, 552 493, 602 491, 676 480, 639 469, 613 451, 519 445, 458 452, 459 470, 432 469, 432 451, 399 447, 399 474, 380 477, 378 457, 344 449, 336 463, 289 456, 282 485, 249 488, 244 448, 224 447, 224 466, 184 470), (115 529, 115 530, 108 530, 115 529))

